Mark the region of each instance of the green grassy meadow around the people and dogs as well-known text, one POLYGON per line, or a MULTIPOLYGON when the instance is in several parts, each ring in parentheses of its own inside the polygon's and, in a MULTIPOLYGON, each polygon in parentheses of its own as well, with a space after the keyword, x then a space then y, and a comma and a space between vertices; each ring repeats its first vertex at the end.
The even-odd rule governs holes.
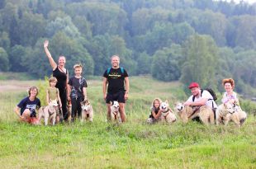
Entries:
POLYGON ((172 108, 186 100, 179 82, 130 77, 127 122, 116 124, 106 122, 102 81, 94 77, 88 80, 93 122, 55 126, 18 122, 13 109, 31 85, 40 87, 44 103, 47 82, 0 81, 1 168, 256 168, 254 115, 240 129, 180 120, 146 124, 154 97, 172 108))

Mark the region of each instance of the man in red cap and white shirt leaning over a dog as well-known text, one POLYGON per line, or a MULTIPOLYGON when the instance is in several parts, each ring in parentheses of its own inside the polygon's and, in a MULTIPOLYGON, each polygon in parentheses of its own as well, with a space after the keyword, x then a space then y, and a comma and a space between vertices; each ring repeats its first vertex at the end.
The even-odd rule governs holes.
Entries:
POLYGON ((197 82, 190 83, 188 87, 192 96, 190 96, 187 101, 184 103, 185 106, 209 106, 212 110, 216 110, 217 105, 213 100, 211 93, 206 90, 201 90, 197 82))

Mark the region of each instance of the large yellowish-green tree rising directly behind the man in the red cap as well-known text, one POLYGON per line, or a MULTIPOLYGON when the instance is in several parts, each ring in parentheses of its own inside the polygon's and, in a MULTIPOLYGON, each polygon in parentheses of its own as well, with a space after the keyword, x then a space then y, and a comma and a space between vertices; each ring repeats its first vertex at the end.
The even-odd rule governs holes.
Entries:
POLYGON ((216 43, 208 35, 193 35, 184 44, 185 59, 181 82, 199 82, 201 87, 216 87, 216 65, 219 61, 216 43))

